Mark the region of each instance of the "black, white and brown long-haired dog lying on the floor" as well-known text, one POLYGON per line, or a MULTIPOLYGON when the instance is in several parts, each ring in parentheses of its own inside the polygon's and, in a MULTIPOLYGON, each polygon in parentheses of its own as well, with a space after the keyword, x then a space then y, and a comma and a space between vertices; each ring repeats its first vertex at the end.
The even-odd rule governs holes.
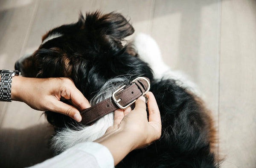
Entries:
MULTIPOLYGON (((130 43, 125 41, 133 33, 133 26, 122 14, 80 14, 78 22, 44 35, 39 48, 20 58, 15 69, 25 77, 72 78, 91 105, 144 76, 151 82, 150 91, 161 113, 162 135, 147 148, 132 151, 116 167, 219 167, 211 112, 195 84, 164 64, 150 36, 140 34, 130 43)), ((55 127, 51 145, 56 154, 77 143, 98 139, 113 125, 113 112, 90 126, 60 113, 47 111, 45 115, 55 127)))

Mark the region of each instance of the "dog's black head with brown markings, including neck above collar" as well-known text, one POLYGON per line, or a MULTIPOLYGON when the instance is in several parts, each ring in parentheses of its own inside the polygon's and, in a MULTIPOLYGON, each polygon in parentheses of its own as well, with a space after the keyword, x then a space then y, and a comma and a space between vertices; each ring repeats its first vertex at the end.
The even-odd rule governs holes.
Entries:
MULTIPOLYGON (((122 45, 133 33, 134 28, 121 14, 95 12, 85 18, 80 14, 77 23, 59 26, 44 35, 39 48, 18 60, 15 69, 25 77, 72 78, 90 101, 106 81, 116 76, 153 78, 148 65, 122 45)), ((71 120, 58 113, 47 113, 47 119, 58 127, 71 120)))

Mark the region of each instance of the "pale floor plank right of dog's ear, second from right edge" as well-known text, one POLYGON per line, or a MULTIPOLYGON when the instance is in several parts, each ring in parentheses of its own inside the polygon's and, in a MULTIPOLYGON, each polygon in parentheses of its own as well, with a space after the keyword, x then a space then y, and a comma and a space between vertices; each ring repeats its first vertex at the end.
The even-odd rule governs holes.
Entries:
POLYGON ((220 0, 156 0, 152 36, 163 59, 199 86, 218 127, 220 0))

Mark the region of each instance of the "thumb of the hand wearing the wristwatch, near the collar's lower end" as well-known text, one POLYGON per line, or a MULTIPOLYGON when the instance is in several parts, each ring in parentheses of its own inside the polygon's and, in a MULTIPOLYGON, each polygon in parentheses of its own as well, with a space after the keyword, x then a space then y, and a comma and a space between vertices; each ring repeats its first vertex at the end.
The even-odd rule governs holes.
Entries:
POLYGON ((72 119, 76 120, 77 122, 81 122, 82 116, 79 113, 79 110, 77 110, 75 107, 63 103, 61 101, 52 101, 54 104, 53 108, 51 111, 56 112, 56 113, 61 113, 66 116, 70 116, 72 119))

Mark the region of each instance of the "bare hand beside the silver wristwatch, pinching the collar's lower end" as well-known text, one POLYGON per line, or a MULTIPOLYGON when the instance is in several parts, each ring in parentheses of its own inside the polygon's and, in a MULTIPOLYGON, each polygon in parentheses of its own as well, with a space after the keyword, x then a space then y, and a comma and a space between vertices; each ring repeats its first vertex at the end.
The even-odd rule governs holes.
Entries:
POLYGON ((79 110, 90 107, 70 78, 12 78, 12 100, 23 101, 35 110, 61 113, 81 121, 79 110), (69 100, 74 106, 60 101, 69 100))

